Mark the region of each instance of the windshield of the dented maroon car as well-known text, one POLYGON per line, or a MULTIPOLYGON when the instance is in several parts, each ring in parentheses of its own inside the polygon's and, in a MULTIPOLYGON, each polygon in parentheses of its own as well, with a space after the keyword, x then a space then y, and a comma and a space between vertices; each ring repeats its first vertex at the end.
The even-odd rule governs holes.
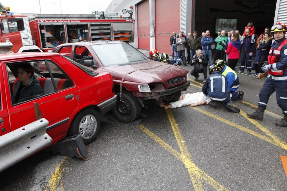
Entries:
POLYGON ((103 66, 120 66, 148 61, 148 58, 127 43, 92 45, 103 66))

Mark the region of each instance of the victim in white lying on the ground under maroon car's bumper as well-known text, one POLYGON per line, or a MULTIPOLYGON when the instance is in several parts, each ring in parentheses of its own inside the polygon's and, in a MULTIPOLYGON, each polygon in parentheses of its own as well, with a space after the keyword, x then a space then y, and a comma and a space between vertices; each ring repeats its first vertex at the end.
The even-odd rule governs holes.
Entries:
POLYGON ((208 104, 210 101, 211 99, 208 96, 205 96, 202 92, 196 92, 192 94, 183 94, 181 95, 178 101, 169 103, 168 105, 165 105, 162 101, 159 101, 159 105, 164 109, 168 108, 173 109, 176 107, 182 107, 186 105, 189 105, 191 107, 204 105, 208 104))

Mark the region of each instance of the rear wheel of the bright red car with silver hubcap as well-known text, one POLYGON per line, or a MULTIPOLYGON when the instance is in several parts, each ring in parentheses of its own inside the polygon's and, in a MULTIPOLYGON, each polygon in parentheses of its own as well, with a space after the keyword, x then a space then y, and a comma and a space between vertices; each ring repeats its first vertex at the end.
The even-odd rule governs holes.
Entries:
POLYGON ((74 117, 67 136, 80 134, 85 145, 88 145, 96 139, 99 131, 100 115, 94 109, 86 108, 74 117))

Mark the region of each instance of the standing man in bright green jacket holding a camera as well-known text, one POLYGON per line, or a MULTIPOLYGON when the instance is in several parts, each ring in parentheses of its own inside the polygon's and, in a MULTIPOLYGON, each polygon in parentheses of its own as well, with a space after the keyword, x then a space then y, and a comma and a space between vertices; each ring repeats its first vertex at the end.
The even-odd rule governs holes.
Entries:
POLYGON ((221 35, 218 36, 216 39, 215 39, 215 42, 217 43, 216 45, 216 50, 215 50, 215 55, 214 55, 214 61, 215 60, 224 60, 224 55, 225 55, 225 52, 224 50, 227 49, 227 41, 228 41, 228 37, 225 36, 226 32, 225 30, 221 31, 221 35))

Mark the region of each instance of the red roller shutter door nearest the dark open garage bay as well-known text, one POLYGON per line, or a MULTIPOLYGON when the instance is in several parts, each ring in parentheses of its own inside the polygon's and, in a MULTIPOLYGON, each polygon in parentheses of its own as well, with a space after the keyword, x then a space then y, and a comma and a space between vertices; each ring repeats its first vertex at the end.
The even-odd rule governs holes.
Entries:
POLYGON ((155 36, 156 49, 171 55, 170 36, 172 32, 179 33, 180 1, 156 0, 155 36), (160 36, 161 34, 161 36, 160 36))

